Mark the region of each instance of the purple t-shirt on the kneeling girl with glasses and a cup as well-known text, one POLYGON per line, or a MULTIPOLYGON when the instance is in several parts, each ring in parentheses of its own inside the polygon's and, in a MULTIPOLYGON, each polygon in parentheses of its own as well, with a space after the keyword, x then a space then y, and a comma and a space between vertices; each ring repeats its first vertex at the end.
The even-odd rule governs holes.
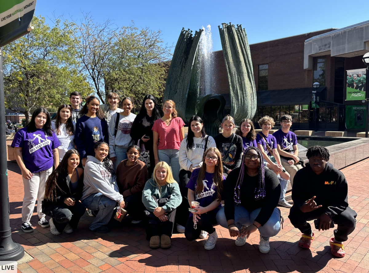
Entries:
MULTIPOLYGON (((197 187, 197 176, 200 173, 200 168, 193 170, 190 180, 188 181, 186 187, 190 190, 195 191, 197 187)), ((225 177, 223 176, 223 182, 225 181, 225 177)), ((215 199, 217 199, 217 187, 213 184, 213 177, 214 174, 205 173, 205 179, 203 180, 204 183, 204 190, 201 194, 196 194, 195 192, 195 201, 200 203, 200 207, 206 207, 211 204, 215 199)), ((216 210, 222 207, 219 204, 219 207, 215 208, 216 210)), ((192 213, 190 212, 190 217, 192 217, 192 213)))

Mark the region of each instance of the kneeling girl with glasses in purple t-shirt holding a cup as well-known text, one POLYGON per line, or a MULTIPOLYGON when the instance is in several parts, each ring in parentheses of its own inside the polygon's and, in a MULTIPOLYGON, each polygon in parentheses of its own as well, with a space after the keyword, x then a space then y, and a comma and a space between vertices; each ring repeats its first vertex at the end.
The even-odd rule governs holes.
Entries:
POLYGON ((213 228, 217 224, 215 215, 222 207, 220 201, 223 193, 223 166, 221 161, 220 151, 217 148, 211 147, 204 154, 204 163, 200 168, 196 168, 192 172, 190 181, 186 185, 188 188, 188 203, 192 201, 199 202, 199 207, 193 208, 196 212, 190 213, 187 218, 186 231, 184 235, 189 241, 199 238, 201 232, 206 234, 202 238, 209 238, 205 243, 205 249, 210 250, 215 247, 218 235, 213 228), (194 228, 196 224, 196 229, 194 228))

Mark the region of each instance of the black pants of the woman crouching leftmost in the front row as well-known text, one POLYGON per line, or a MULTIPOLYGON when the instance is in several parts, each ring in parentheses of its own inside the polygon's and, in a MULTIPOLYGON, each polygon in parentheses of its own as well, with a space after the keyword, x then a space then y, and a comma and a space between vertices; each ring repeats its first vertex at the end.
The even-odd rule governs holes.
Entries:
POLYGON ((42 206, 42 212, 52 218, 52 221, 59 232, 63 232, 69 225, 76 229, 79 219, 85 214, 86 207, 81 202, 76 201, 74 206, 46 204, 42 206))

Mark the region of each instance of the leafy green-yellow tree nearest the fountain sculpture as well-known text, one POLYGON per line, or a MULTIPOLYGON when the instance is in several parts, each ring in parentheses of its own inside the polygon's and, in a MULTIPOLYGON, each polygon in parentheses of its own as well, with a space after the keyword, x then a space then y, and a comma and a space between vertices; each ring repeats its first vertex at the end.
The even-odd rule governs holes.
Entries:
POLYGON ((137 106, 148 93, 161 98, 169 69, 170 47, 161 31, 122 27, 104 69, 105 90, 130 96, 137 106))

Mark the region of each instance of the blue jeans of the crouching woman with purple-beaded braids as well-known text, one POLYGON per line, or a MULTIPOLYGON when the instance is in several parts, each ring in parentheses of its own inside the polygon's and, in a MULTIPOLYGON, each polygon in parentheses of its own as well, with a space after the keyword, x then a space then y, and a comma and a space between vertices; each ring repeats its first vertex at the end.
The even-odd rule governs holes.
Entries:
MULTIPOLYGON (((247 209, 242 207, 241 205, 234 205, 234 223, 237 226, 238 230, 241 230, 242 226, 250 226, 254 223, 256 217, 259 215, 261 208, 255 209, 252 212, 249 212, 247 209)), ((219 225, 223 226, 223 228, 228 228, 227 219, 224 214, 224 207, 221 208, 217 215, 217 222, 219 225)), ((263 225, 259 226, 260 235, 264 240, 268 240, 269 237, 276 236, 280 231, 280 211, 278 208, 275 208, 272 216, 270 216, 269 220, 263 225)))

